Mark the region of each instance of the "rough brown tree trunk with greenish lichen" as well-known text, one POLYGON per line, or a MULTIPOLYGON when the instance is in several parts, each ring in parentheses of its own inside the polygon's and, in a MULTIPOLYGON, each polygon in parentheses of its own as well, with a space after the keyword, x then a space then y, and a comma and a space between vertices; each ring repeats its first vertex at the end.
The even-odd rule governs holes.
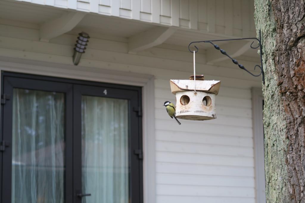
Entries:
POLYGON ((255 0, 266 81, 263 94, 268 203, 305 202, 304 10, 301 0, 255 0))

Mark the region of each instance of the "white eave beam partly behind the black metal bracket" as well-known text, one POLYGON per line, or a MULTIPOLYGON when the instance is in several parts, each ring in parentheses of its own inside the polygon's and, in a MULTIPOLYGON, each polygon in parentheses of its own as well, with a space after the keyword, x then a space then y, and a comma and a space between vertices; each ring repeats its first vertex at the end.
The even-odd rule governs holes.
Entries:
MULTIPOLYGON (((213 42, 214 44, 217 44, 217 42, 213 42)), ((221 49, 227 52, 229 56, 232 58, 241 56, 244 54, 247 50, 249 50, 251 47, 252 41, 246 41, 246 40, 236 40, 231 41, 227 44, 219 45, 221 49)), ((253 43, 254 47, 257 46, 256 43, 253 43)), ((221 52, 213 47, 211 45, 211 48, 206 50, 206 63, 209 65, 213 65, 216 62, 224 61, 229 59, 226 55, 221 54, 221 52)))

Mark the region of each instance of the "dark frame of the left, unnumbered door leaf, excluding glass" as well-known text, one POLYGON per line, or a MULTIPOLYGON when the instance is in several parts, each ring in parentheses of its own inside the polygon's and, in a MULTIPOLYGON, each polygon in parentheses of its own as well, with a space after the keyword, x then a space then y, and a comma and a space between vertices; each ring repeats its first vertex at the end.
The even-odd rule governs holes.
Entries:
MULTIPOLYGON (((2 140, 9 142, 10 146, 2 153, 2 202, 11 202, 12 190, 12 120, 13 120, 13 88, 32 89, 41 91, 52 91, 65 93, 65 103, 72 102, 73 86, 69 83, 58 83, 51 81, 38 81, 34 79, 15 78, 3 74, 2 90, 10 95, 10 100, 2 105, 2 140), (39 85, 38 85, 39 83, 39 85)), ((65 135, 66 135, 66 157, 72 156, 72 107, 66 105, 65 108, 65 135)), ((65 200, 72 201, 72 159, 65 159, 65 200)))

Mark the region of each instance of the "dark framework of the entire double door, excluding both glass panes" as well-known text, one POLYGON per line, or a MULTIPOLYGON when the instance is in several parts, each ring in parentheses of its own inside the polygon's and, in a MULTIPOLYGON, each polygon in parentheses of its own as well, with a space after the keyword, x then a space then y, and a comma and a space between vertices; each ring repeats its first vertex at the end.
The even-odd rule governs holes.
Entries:
MULTIPOLYGON (((101 82, 90 82, 74 79, 64 79, 40 75, 28 75, 21 73, 2 72, 1 74, 1 95, 10 93, 11 98, 7 100, 5 105, 1 105, 1 135, 0 140, 8 140, 12 143, 12 109, 13 109, 13 88, 33 89, 42 91, 52 91, 65 93, 66 102, 66 190, 65 201, 78 203, 80 198, 76 198, 75 191, 79 187, 80 181, 74 181, 76 174, 80 174, 81 168, 81 152, 77 152, 76 147, 81 144, 81 95, 103 96, 118 99, 129 100, 129 161, 131 166, 130 174, 130 197, 132 203, 143 202, 143 162, 134 154, 135 150, 142 150, 142 117, 138 117, 134 108, 142 107, 142 88, 136 86, 117 85, 101 82), (107 88, 107 95, 103 93, 103 89, 107 88), (110 90, 110 91, 109 91, 110 90), (78 98, 77 98, 78 97, 78 98), (72 105, 68 105, 68 104, 72 105), (3 128, 5 126, 5 128, 3 128), (132 127, 133 126, 133 127, 132 127), (76 133, 78 132, 78 134, 76 133), (9 139, 8 139, 9 138, 9 139), (80 152, 80 153, 79 153, 80 152), (78 161, 77 155, 78 154, 78 161), (70 159, 69 159, 70 157, 70 159), (72 157, 74 157, 72 159, 72 157), (80 158, 79 158, 80 157, 80 158), (77 171, 80 170, 80 171, 77 171), (77 183, 78 182, 78 183, 77 183), (78 184, 77 186, 75 184, 78 184), (73 187, 74 185, 74 187, 73 187), (73 188, 73 189, 72 189, 73 188), (73 201, 74 200, 74 201, 73 201)), ((80 145, 81 146, 81 145, 80 145)), ((81 149, 81 148, 78 148, 81 149)), ((11 171, 12 150, 7 148, 0 156, 0 192, 3 203, 11 202, 11 171), (10 169, 10 170, 9 170, 10 169)), ((78 177, 80 179, 80 177, 78 177)), ((80 189, 80 188, 79 188, 80 189)))

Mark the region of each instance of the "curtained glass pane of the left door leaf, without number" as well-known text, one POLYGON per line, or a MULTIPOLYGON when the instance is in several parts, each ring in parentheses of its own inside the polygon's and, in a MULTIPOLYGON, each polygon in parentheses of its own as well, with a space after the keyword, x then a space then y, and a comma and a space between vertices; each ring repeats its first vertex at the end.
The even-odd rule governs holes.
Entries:
POLYGON ((12 202, 64 202, 63 93, 13 90, 12 202))

